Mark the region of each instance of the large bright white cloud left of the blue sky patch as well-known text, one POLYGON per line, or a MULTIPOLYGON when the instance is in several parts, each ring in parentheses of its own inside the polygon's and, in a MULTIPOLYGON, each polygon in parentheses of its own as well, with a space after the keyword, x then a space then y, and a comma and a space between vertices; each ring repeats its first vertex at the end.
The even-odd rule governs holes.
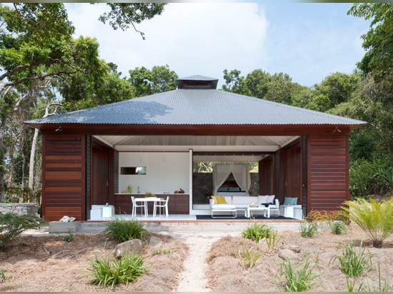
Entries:
POLYGON ((66 4, 76 36, 96 37, 100 57, 114 62, 128 76, 129 69, 169 65, 181 76, 201 74, 222 81, 224 69, 247 74, 263 64, 267 21, 258 4, 168 4, 161 16, 137 29, 114 31, 97 18, 104 4, 66 4))

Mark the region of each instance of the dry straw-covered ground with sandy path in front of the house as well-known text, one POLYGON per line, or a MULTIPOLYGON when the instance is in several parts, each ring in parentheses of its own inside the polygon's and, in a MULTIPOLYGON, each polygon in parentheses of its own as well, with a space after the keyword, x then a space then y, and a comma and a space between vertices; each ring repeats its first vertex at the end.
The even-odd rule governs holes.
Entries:
MULTIPOLYGON (((342 254, 344 244, 353 240, 372 254, 372 270, 354 282, 369 285, 377 290, 379 280, 378 263, 382 280, 387 273, 389 290, 393 290, 393 238, 384 241, 383 248, 372 248, 370 240, 357 226, 349 233, 334 235, 322 231, 314 238, 302 238, 299 232, 284 231, 276 250, 269 252, 265 242, 259 244, 241 237, 241 232, 226 235, 212 242, 203 240, 203 232, 187 238, 177 232, 154 234, 162 241, 158 247, 144 246, 145 265, 150 273, 135 283, 118 285, 115 288, 98 288, 89 283, 86 272, 89 263, 96 257, 112 255, 116 242, 105 234, 74 235, 67 243, 59 235, 24 235, 18 238, 5 252, 0 252, 0 292, 176 292, 182 291, 179 284, 184 279, 193 292, 282 292, 279 268, 283 249, 294 253, 294 268, 311 260, 313 273, 319 275, 311 290, 317 292, 347 292, 347 280, 334 262, 334 256, 342 254), (204 251, 190 250, 202 248, 204 251), (238 250, 253 248, 262 256, 252 268, 243 268, 237 256, 238 250), (157 254, 158 252, 158 254, 157 254), (197 262, 199 260, 199 262, 197 262), (206 285, 193 287, 192 272, 202 271, 206 285), (186 273, 190 272, 190 273, 186 273), (188 276, 187 276, 188 275, 188 276), (190 278, 191 277, 191 278, 190 278)), ((200 280, 200 278, 194 278, 200 280)), ((197 281, 195 281, 197 282, 197 281)))

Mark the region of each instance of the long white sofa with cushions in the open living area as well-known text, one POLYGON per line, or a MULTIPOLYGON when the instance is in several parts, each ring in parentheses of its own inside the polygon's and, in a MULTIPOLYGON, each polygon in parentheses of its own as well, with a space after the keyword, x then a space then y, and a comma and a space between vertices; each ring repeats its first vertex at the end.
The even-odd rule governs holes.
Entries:
MULTIPOLYGON (((222 196, 226 203, 215 203, 214 198, 210 199, 210 208, 212 209, 212 218, 215 212, 232 212, 233 217, 237 217, 237 211, 246 211, 250 203, 259 206, 267 206, 271 210, 271 215, 279 215, 279 200, 271 196, 245 196, 239 193, 219 192, 218 196, 222 196), (235 195, 234 195, 235 194, 235 195)), ((214 197, 214 196, 212 196, 214 197)), ((217 216, 216 216, 217 217, 217 216)))

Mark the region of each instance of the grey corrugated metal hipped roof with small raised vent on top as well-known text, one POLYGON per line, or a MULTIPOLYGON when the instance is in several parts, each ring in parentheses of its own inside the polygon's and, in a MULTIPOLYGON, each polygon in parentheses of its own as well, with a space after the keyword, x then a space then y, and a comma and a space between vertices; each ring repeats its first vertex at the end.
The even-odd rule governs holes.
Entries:
MULTIPOLYGON (((181 81, 212 81, 204 76, 181 81)), ((141 98, 38 118, 25 123, 113 125, 349 125, 364 121, 312 111, 215 88, 178 88, 141 98)))

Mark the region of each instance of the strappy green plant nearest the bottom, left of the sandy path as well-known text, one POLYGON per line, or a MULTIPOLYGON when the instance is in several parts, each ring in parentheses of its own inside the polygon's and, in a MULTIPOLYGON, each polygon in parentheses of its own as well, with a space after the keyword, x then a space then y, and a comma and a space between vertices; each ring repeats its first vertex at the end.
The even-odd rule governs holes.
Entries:
POLYGON ((124 257, 99 259, 89 263, 91 268, 87 271, 91 273, 91 284, 99 287, 111 285, 114 287, 119 283, 128 283, 136 281, 141 275, 149 273, 144 266, 144 256, 139 254, 127 253, 124 257))

